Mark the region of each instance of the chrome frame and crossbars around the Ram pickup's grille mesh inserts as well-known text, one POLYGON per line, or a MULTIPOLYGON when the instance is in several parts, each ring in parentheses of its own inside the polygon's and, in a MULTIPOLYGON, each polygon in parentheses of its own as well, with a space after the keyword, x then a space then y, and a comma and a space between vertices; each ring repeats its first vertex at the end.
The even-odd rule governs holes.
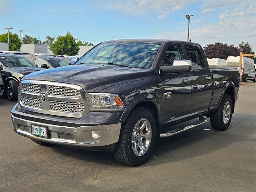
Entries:
MULTIPOLYGON (((86 94, 84 93, 84 90, 82 87, 74 84, 67 84, 67 83, 59 83, 59 82, 49 82, 49 81, 38 81, 38 80, 22 80, 22 84, 40 84, 40 89, 42 89, 41 85, 46 85, 46 92, 49 91, 49 86, 58 86, 58 87, 66 87, 66 88, 71 88, 71 89, 76 89, 80 93, 80 97, 72 97, 72 96, 56 96, 56 95, 47 95, 47 100, 45 102, 41 101, 42 108, 33 108, 29 106, 25 106, 22 104, 21 100, 21 95, 23 96, 28 96, 31 98, 36 98, 40 99, 40 93, 31 93, 31 92, 26 92, 22 90, 22 86, 20 88, 19 92, 19 104, 22 109, 32 111, 32 112, 38 112, 42 114, 49 114, 49 115, 57 115, 57 116, 66 116, 66 117, 74 117, 74 118, 81 118, 85 114, 89 112, 89 106, 86 100, 86 94), (75 112, 64 112, 64 111, 56 111, 56 110, 51 110, 50 107, 50 100, 52 101, 60 101, 60 102, 76 102, 76 103, 82 103, 84 110, 80 113, 75 113, 75 112)), ((40 91, 41 92, 41 91, 40 91)))

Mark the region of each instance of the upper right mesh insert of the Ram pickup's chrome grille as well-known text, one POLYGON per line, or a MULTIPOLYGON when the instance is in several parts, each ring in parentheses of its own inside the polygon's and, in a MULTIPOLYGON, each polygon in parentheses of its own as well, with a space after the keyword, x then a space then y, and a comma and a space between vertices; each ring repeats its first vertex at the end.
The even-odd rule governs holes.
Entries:
POLYGON ((49 95, 57 96, 69 96, 69 97, 80 97, 81 94, 79 90, 68 88, 68 87, 59 87, 59 86, 49 86, 49 95))

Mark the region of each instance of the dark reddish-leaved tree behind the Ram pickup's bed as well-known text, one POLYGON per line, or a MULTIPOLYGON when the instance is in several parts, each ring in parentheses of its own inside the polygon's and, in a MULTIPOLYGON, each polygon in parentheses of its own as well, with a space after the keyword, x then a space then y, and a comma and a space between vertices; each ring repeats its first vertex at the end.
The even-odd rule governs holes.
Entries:
POLYGON ((234 45, 228 45, 220 42, 215 44, 206 44, 204 47, 206 57, 227 59, 228 56, 239 56, 238 48, 234 45))

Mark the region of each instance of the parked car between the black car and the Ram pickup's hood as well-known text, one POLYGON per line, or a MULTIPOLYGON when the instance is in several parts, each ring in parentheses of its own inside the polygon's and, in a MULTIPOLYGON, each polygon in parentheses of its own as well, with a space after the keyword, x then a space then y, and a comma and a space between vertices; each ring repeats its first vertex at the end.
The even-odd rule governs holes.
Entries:
POLYGON ((64 58, 44 56, 44 55, 22 55, 34 63, 36 66, 50 69, 69 65, 64 58))

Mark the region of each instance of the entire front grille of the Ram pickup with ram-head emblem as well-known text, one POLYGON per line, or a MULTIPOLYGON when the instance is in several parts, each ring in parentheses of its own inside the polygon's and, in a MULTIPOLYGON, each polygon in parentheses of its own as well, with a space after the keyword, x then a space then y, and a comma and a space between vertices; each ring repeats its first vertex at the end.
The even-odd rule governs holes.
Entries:
POLYGON ((20 87, 20 105, 24 110, 76 118, 89 111, 80 86, 24 80, 20 87))

